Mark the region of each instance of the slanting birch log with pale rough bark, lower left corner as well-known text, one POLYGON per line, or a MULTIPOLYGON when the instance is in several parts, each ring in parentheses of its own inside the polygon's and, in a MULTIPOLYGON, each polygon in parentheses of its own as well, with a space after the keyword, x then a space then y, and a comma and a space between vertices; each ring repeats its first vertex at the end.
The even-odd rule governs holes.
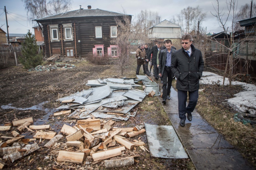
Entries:
POLYGON ((25 152, 15 152, 13 154, 9 155, 9 159, 11 160, 11 162, 14 162, 17 159, 20 159, 38 149, 40 149, 40 147, 37 145, 37 143, 33 143, 33 144, 27 144, 26 147, 22 148, 23 150, 26 150, 25 152))

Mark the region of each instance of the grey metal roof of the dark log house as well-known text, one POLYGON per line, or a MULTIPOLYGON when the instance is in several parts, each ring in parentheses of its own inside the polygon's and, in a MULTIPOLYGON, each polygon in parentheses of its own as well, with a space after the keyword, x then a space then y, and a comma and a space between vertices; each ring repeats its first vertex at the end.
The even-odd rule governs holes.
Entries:
POLYGON ((61 19, 61 18, 77 18, 77 17, 92 17, 92 16, 125 16, 117 12, 102 10, 102 9, 78 9, 45 18, 35 19, 35 21, 61 19))

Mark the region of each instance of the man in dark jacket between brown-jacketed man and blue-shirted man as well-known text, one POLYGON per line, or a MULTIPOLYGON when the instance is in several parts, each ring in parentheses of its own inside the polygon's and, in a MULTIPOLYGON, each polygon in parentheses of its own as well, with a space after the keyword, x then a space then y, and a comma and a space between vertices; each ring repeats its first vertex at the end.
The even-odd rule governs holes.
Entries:
POLYGON ((151 50, 148 52, 147 60, 146 60, 148 62, 152 54, 151 62, 154 65, 154 76, 156 80, 158 80, 157 53, 160 50, 160 47, 161 47, 161 42, 159 41, 157 42, 157 45, 153 46, 151 50))

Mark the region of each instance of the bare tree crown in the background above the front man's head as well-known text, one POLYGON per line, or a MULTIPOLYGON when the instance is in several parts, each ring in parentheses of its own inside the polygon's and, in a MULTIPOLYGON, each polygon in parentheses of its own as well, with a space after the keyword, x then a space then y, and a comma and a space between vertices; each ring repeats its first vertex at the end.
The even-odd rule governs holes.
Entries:
POLYGON ((176 17, 173 17, 170 21, 179 25, 181 27, 182 34, 190 33, 192 30, 197 30, 198 21, 200 25, 206 17, 206 12, 203 12, 203 9, 199 6, 187 7, 181 10, 176 17))

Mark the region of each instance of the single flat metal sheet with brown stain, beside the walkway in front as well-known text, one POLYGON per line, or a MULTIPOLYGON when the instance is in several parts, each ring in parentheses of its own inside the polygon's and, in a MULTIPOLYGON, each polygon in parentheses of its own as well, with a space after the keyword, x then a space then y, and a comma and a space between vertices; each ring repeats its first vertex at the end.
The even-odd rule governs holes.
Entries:
POLYGON ((145 124, 150 154, 157 158, 188 158, 173 126, 145 124))

